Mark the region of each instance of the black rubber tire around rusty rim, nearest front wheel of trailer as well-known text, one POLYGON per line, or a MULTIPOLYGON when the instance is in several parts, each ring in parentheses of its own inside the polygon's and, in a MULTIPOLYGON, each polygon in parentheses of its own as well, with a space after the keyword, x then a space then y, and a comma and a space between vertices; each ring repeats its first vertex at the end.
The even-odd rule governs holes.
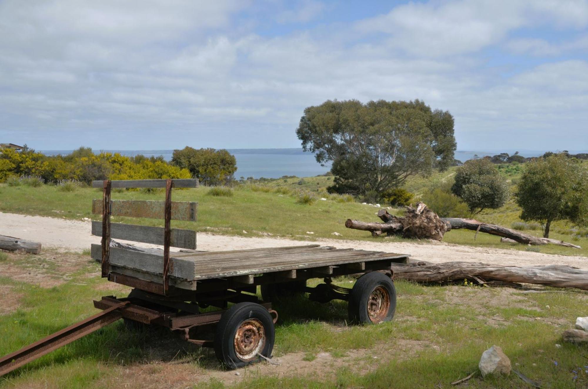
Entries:
POLYGON ((243 367, 259 360, 255 356, 252 360, 241 360, 235 350, 235 334, 243 321, 255 318, 263 325, 265 344, 259 353, 265 357, 271 357, 273 342, 275 340, 275 328, 273 319, 268 310, 255 303, 238 303, 229 308, 216 325, 215 333, 215 355, 226 368, 235 369, 243 367))

